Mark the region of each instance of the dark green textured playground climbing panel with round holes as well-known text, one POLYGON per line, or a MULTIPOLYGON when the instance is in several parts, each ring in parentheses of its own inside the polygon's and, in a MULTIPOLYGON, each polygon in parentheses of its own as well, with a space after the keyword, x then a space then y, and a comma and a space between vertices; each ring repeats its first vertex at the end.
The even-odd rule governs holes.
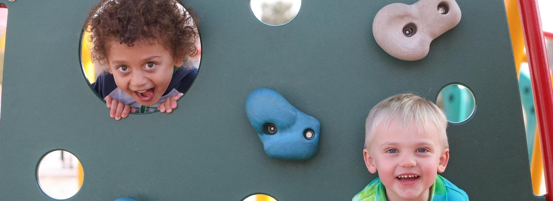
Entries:
MULTIPOLYGON (((398 1, 412 3, 413 1, 398 1)), ((79 41, 96 0, 8 2, 0 123, 0 200, 51 200, 36 166, 71 151, 85 170, 71 200, 351 200, 375 178, 364 165, 364 121, 393 94, 435 100, 452 82, 478 110, 450 125, 442 175, 471 200, 544 200, 531 190, 524 121, 503 1, 457 1, 463 20, 418 61, 395 59, 372 39, 389 1, 302 1, 292 22, 270 27, 249 1, 190 0, 199 21, 199 74, 171 114, 116 121, 85 81, 79 41), (319 119, 310 160, 267 157, 244 102, 273 88, 319 119)))

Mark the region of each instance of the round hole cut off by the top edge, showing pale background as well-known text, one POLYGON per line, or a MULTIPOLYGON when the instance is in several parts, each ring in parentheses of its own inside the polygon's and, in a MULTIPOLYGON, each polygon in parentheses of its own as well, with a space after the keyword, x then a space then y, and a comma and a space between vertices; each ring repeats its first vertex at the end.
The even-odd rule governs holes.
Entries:
POLYGON ((298 15, 301 0, 251 0, 249 6, 260 22, 280 26, 288 24, 298 15))

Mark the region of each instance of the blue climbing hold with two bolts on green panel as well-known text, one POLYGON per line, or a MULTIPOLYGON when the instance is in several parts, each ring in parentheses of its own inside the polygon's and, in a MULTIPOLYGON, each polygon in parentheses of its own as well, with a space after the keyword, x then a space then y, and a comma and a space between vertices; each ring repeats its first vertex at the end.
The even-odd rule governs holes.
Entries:
POLYGON ((260 88, 246 99, 246 115, 273 158, 305 160, 317 154, 321 123, 292 106, 272 89, 260 88), (267 129, 272 124, 274 131, 267 129), (306 133, 311 131, 311 135, 306 133))

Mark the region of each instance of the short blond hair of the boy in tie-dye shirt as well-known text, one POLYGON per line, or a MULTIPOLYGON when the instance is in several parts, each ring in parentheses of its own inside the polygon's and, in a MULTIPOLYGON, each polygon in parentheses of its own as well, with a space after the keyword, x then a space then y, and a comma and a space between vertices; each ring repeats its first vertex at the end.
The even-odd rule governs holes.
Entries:
POLYGON ((444 111, 427 99, 412 93, 404 93, 384 99, 371 109, 365 123, 365 148, 371 145, 375 128, 378 125, 388 128, 394 119, 399 121, 401 129, 407 129, 411 123, 416 123, 419 131, 429 125, 436 126, 444 148, 449 147, 444 111))

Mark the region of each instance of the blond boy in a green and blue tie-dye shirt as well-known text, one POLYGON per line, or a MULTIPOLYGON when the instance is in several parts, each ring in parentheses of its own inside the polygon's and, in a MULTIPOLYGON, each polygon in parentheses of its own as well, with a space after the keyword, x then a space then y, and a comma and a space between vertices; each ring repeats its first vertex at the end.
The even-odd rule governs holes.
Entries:
POLYGON ((414 94, 378 103, 365 125, 363 158, 374 179, 352 201, 468 200, 446 178, 449 160, 444 112, 414 94))

